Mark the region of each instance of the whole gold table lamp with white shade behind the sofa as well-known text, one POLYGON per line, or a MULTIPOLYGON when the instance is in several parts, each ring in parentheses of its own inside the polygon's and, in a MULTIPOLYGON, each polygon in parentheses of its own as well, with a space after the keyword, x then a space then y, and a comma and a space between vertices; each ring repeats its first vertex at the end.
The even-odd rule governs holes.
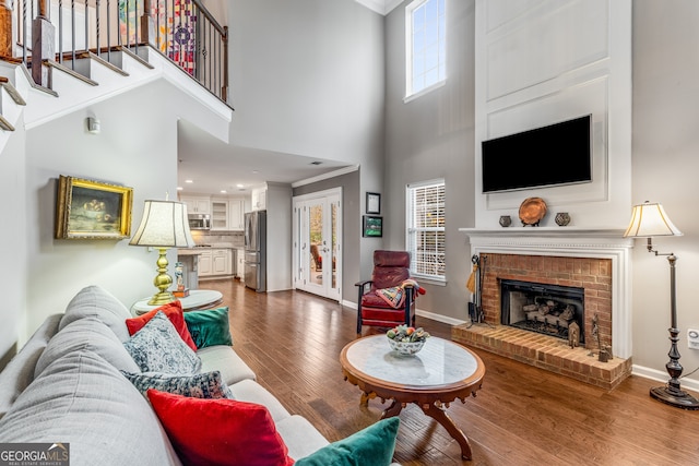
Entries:
POLYGON ((149 301, 150 306, 162 306, 175 301, 175 296, 167 289, 173 277, 167 274, 167 249, 192 248, 194 240, 189 231, 187 206, 174 201, 145 201, 143 218, 135 235, 129 241, 131 246, 147 246, 158 250, 157 272, 153 284, 158 292, 149 301))

